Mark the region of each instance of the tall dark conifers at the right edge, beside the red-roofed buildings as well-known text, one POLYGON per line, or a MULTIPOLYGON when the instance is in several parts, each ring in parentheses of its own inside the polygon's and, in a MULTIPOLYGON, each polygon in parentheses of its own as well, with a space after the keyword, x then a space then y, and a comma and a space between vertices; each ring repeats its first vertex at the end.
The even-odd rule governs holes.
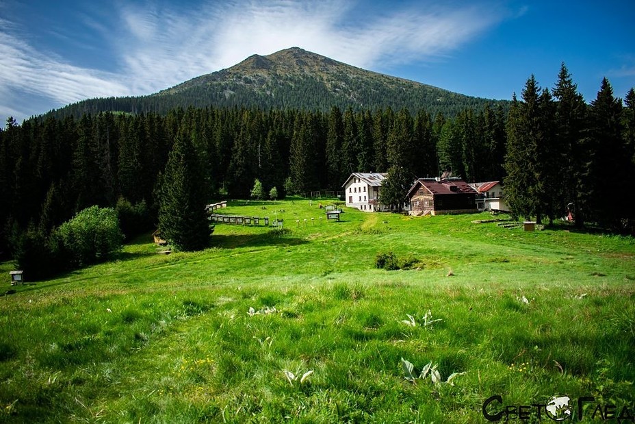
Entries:
POLYGON ((553 90, 532 75, 508 114, 506 201, 516 216, 597 223, 635 234, 635 91, 603 79, 589 105, 562 64, 553 90))

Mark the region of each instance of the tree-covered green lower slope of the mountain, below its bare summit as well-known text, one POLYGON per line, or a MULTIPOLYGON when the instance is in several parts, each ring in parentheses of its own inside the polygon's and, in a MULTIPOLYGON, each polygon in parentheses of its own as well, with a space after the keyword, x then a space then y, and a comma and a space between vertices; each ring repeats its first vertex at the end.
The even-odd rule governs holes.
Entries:
POLYGON ((496 103, 508 109, 509 101, 492 101, 469 97, 426 85, 400 82, 388 77, 354 78, 337 73, 329 78, 337 81, 329 86, 320 77, 309 75, 276 75, 272 79, 261 76, 230 77, 222 73, 205 75, 153 95, 137 97, 106 97, 86 99, 52 110, 47 116, 64 119, 72 115, 119 111, 131 114, 166 114, 174 108, 260 108, 320 110, 328 113, 333 106, 355 112, 370 109, 424 107, 432 116, 456 116, 466 108, 481 110, 496 103))

